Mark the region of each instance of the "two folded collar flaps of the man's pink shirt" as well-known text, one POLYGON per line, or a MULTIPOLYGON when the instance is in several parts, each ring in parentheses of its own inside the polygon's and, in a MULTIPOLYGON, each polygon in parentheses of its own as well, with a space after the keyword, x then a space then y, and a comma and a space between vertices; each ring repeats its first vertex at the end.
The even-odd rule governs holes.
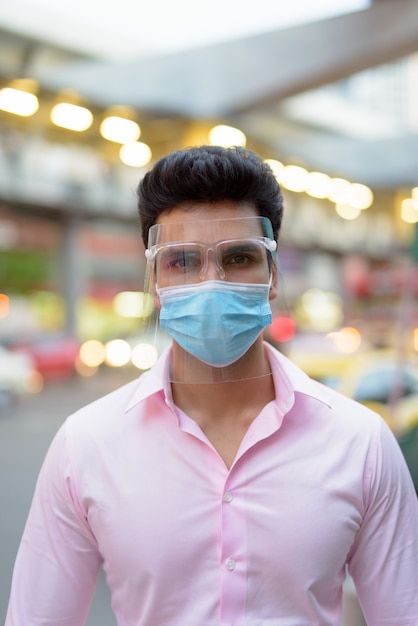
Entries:
MULTIPOLYGON (((309 378, 305 372, 269 343, 265 343, 265 347, 278 392, 280 389, 283 390, 285 388, 285 396, 289 398, 294 397, 295 393, 301 393, 330 406, 326 394, 322 392, 321 386, 316 381, 309 378)), ((150 370, 140 376, 127 404, 126 411, 132 409, 145 398, 162 391, 167 399, 171 397, 168 376, 170 361, 171 346, 166 348, 157 363, 150 370)))

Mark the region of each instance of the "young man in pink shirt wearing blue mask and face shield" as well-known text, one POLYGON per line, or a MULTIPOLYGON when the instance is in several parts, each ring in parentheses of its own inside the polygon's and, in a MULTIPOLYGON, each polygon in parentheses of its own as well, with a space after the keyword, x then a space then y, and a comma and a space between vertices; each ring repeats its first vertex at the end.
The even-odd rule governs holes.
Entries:
POLYGON ((200 147, 139 187, 148 283, 172 346, 81 409, 45 459, 7 626, 84 624, 103 565, 119 626, 418 623, 418 514, 384 421, 309 379, 262 330, 279 186, 200 147))

